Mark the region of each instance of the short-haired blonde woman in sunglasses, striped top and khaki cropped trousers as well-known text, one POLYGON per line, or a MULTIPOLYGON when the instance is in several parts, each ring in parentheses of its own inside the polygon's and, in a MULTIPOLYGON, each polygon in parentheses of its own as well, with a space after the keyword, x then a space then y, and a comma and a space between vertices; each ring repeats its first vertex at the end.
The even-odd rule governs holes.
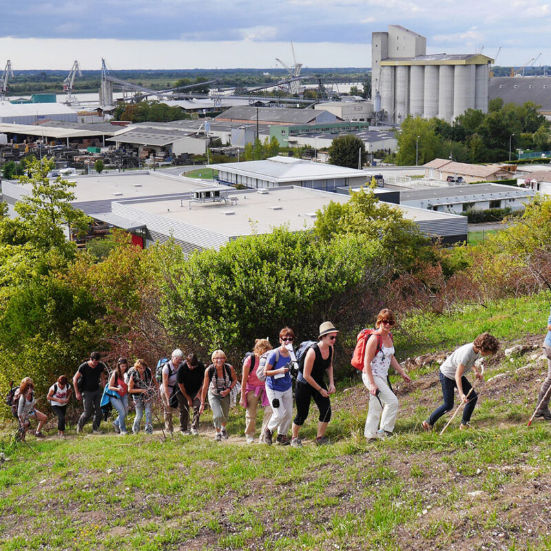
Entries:
POLYGON ((202 384, 201 407, 199 414, 205 410, 205 398, 209 394, 209 404, 212 410, 212 422, 216 428, 216 441, 227 440, 226 424, 229 415, 229 393, 236 386, 237 376, 233 366, 226 362, 223 350, 215 350, 211 356, 212 364, 205 371, 202 384))

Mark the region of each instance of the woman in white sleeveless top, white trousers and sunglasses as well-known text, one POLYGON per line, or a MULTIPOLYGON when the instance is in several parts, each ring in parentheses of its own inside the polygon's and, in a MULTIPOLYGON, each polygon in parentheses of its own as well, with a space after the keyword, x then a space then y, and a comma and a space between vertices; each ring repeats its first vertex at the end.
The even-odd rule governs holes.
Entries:
POLYGON ((393 434, 398 413, 398 399, 388 385, 388 368, 393 366, 395 371, 402 375, 404 381, 410 382, 409 375, 394 357, 395 350, 391 334, 394 324, 393 311, 388 308, 382 309, 377 315, 375 333, 369 337, 366 344, 362 381, 370 394, 364 429, 364 435, 368 441, 375 441, 393 434))

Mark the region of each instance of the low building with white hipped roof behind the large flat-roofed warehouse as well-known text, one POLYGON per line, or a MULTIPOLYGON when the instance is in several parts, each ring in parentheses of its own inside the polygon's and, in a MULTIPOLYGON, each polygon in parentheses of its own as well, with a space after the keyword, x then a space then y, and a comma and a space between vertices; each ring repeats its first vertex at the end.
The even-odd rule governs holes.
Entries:
POLYGON ((362 170, 322 165, 310 160, 283 156, 209 167, 218 170, 218 182, 244 185, 253 189, 295 185, 335 191, 337 187, 364 185, 369 178, 362 170))

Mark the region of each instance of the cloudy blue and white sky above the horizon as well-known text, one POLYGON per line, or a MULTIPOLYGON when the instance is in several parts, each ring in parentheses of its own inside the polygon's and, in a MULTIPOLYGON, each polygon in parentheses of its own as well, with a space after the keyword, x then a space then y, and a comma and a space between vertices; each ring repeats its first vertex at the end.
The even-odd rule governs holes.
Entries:
MULTIPOLYGON (((551 2, 551 0, 550 0, 551 2)), ((498 65, 551 65, 539 0, 0 0, 0 70, 371 66, 371 32, 403 25, 427 52, 482 50, 498 65)))

